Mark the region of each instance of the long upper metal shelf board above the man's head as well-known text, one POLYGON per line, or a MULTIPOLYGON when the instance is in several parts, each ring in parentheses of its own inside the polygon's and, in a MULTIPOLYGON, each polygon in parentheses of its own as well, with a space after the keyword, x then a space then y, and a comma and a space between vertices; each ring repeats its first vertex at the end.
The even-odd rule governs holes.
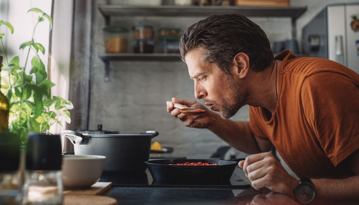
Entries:
POLYGON ((132 6, 99 5, 105 18, 157 16, 157 17, 204 17, 216 14, 238 13, 250 17, 291 17, 297 19, 307 7, 242 7, 242 6, 132 6))

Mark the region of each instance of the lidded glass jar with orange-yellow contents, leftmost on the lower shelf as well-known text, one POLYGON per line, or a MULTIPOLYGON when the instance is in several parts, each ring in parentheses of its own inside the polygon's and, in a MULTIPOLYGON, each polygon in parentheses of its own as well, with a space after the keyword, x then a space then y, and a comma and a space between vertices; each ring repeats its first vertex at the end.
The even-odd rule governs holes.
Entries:
POLYGON ((129 29, 122 26, 103 28, 106 53, 126 53, 129 29))

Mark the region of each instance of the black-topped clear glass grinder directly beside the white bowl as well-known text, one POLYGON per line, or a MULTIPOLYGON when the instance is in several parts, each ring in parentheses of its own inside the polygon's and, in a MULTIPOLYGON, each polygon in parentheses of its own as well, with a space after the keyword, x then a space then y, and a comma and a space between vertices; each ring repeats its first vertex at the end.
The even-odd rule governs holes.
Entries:
POLYGON ((63 203, 61 158, 59 135, 28 134, 22 204, 63 203))

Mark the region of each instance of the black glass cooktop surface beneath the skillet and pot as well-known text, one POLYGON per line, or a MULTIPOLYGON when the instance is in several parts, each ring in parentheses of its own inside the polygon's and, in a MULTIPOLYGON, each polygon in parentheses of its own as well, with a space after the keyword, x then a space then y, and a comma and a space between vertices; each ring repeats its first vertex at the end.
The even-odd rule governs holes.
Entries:
POLYGON ((247 182, 239 177, 235 172, 228 182, 211 183, 208 179, 206 184, 166 184, 162 182, 153 181, 153 178, 146 169, 141 173, 102 173, 100 182, 112 182, 112 187, 167 187, 167 188, 205 188, 205 189, 246 189, 251 188, 247 182))

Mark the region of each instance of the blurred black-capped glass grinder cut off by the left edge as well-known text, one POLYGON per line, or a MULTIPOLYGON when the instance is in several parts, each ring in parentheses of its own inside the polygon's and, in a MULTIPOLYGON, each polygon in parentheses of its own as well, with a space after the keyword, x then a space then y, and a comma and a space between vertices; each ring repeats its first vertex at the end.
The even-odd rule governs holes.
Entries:
POLYGON ((0 132, 0 204, 21 202, 19 155, 20 138, 10 132, 0 132))

